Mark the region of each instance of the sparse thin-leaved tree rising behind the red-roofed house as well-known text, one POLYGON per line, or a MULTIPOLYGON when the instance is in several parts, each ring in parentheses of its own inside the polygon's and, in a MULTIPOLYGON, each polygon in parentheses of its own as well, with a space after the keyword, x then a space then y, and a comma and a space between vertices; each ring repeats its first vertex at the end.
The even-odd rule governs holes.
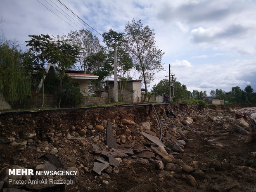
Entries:
POLYGON ((68 36, 69 40, 73 45, 81 48, 81 52, 77 57, 77 62, 75 64, 76 69, 84 71, 86 73, 89 65, 89 59, 91 55, 97 54, 101 51, 102 45, 96 36, 87 29, 81 29, 79 31, 71 31, 68 36))

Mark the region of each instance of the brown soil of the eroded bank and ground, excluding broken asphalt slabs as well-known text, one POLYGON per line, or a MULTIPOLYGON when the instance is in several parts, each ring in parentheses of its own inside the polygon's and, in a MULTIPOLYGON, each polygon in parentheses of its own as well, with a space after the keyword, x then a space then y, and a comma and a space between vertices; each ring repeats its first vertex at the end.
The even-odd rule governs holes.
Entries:
MULTIPOLYGON (((196 179, 197 183, 193 187, 186 181, 186 175, 193 173, 179 170, 175 171, 173 177, 168 177, 166 171, 159 170, 156 161, 161 160, 161 155, 155 154, 150 159, 138 157, 140 152, 154 152, 152 147, 157 147, 142 136, 141 122, 148 121, 151 130, 147 133, 160 137, 159 124, 151 105, 0 113, 0 140, 14 137, 18 142, 22 135, 36 133, 33 141, 26 145, 11 146, 0 141, 0 169, 15 164, 35 170, 37 165, 49 160, 45 155, 56 148, 56 156, 64 166, 59 170, 76 167, 80 173, 74 178, 74 185, 59 187, 59 191, 256 192, 256 157, 251 155, 256 152, 256 143, 245 143, 248 135, 232 131, 236 114, 247 113, 247 116, 251 116, 255 111, 251 110, 253 108, 241 107, 155 105, 161 121, 163 143, 171 140, 175 144, 181 139, 186 142, 184 147, 180 145, 184 152, 171 150, 170 154, 186 165, 192 166, 193 161, 198 161, 199 166, 195 169, 205 173, 204 178, 196 179), (177 117, 166 116, 166 109, 173 110, 177 117), (185 119, 183 114, 191 117, 194 122, 185 126, 175 121, 185 119), (214 121, 213 117, 217 119, 214 121), (128 119, 134 124, 125 126, 121 119, 128 119), (108 173, 105 170, 97 175, 92 171, 93 163, 95 159, 102 157, 100 152, 106 149, 106 131, 90 133, 88 125, 95 127, 98 124, 106 129, 107 121, 111 121, 112 129, 116 132, 119 150, 126 152, 133 149, 134 154, 121 158, 119 173, 108 173), (78 134, 83 128, 87 130, 85 136, 78 134), (131 136, 128 133, 126 142, 121 143, 120 135, 125 135, 123 131, 127 128, 131 136), (178 133, 179 129, 187 130, 187 133, 178 133), (73 131, 72 139, 67 139, 67 135, 73 131), (81 140, 84 141, 83 145, 81 140), (100 149, 94 149, 92 144, 100 149), (221 166, 211 168, 213 160, 219 161, 221 166), (88 171, 83 167, 88 168, 88 171), (108 181, 109 184, 104 184, 103 181, 108 181)), ((251 122, 248 120, 248 123, 251 122)), ((21 189, 32 191, 27 186, 21 189)), ((33 191, 57 190, 42 186, 40 190, 33 191)))

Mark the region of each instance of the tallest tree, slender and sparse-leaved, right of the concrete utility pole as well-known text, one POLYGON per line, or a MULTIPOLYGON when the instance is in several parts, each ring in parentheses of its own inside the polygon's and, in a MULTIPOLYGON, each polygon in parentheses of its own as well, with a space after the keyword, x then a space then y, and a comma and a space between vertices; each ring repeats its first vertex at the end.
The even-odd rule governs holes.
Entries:
POLYGON ((161 63, 164 52, 155 45, 154 30, 143 26, 141 21, 132 20, 125 26, 126 45, 133 58, 135 69, 141 73, 145 92, 147 85, 154 79, 154 73, 163 69, 161 63))

